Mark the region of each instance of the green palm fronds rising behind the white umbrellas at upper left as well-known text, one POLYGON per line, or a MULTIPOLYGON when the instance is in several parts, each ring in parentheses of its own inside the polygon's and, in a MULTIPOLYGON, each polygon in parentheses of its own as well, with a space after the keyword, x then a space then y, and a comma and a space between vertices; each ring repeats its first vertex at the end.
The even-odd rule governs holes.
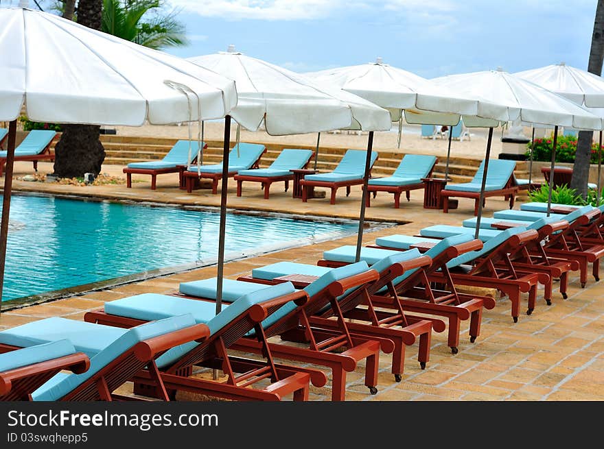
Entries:
POLYGON ((103 0, 102 31, 152 49, 187 45, 177 10, 163 12, 162 0, 103 0))

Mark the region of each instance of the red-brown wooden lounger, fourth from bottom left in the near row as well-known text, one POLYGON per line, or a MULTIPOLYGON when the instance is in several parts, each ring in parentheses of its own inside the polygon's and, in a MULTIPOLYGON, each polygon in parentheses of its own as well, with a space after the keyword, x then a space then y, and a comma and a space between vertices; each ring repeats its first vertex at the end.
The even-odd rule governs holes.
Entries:
MULTIPOLYGON (((304 345, 299 347, 271 341, 268 343, 268 349, 272 356, 329 367, 332 370, 332 400, 345 399, 347 372, 353 372, 358 362, 365 360, 364 383, 372 394, 377 393, 377 363, 380 349, 391 352, 393 342, 388 339, 367 339, 355 335, 350 332, 345 319, 342 318, 338 319, 337 331, 315 328, 310 325, 308 319, 329 305, 335 306, 337 310, 338 304, 348 298, 350 289, 364 289, 377 277, 377 272, 369 269, 367 263, 362 262, 342 270, 331 270, 308 284, 304 289, 309 295, 306 304, 298 307, 290 306, 289 311, 285 308, 282 313, 275 315, 276 321, 263 323, 264 335, 267 339, 284 334, 287 334, 287 338, 290 339, 294 338, 293 334, 298 334, 298 341, 304 345), (345 297, 340 298, 345 293, 347 293, 345 297), (344 352, 335 352, 342 349, 345 349, 344 352)), ((224 302, 237 300, 241 295, 240 291, 254 293, 259 290, 257 284, 242 281, 237 284, 237 289, 229 291, 228 287, 232 287, 232 282, 235 281, 224 279, 223 282, 224 302)), ((199 294, 194 299, 205 300, 215 307, 213 302, 216 300, 216 278, 208 280, 205 285, 199 287, 199 294)), ((262 354, 263 351, 262 345, 249 336, 237 340, 232 348, 257 354, 262 354)))

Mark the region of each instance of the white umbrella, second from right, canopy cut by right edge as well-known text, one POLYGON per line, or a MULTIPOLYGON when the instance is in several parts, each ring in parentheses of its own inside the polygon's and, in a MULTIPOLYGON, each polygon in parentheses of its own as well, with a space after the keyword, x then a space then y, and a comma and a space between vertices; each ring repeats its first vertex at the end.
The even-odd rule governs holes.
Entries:
MULTIPOLYGON (((489 101, 491 104, 504 106, 507 108, 508 116, 504 121, 520 120, 524 123, 538 123, 540 125, 553 126, 555 130, 554 149, 556 146, 558 126, 572 126, 572 128, 582 130, 600 130, 602 128, 601 119, 588 112, 588 110, 581 108, 581 106, 574 104, 572 101, 561 97, 560 95, 537 86, 537 84, 533 84, 520 77, 504 72, 502 69, 449 75, 434 78, 432 81, 463 95, 485 99, 485 101, 489 101)), ((485 112, 487 111, 479 107, 476 118, 485 117, 485 112)), ((479 122, 480 120, 474 121, 472 117, 468 117, 466 124, 470 127, 481 126, 479 122)), ((487 140, 487 151, 485 154, 485 169, 480 191, 478 217, 476 219, 476 237, 478 237, 480 217, 483 210, 483 195, 491 153, 492 135, 493 126, 489 126, 489 138, 487 140)), ((554 165, 555 151, 552 152, 552 172, 554 165)), ((548 216, 551 208, 552 185, 552 182, 550 182, 548 216)))

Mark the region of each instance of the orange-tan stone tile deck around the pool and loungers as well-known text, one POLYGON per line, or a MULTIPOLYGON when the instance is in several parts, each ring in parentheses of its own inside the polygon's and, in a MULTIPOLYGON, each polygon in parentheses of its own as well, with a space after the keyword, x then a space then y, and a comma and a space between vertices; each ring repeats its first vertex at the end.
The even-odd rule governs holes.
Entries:
MULTIPOLYGON (((103 170, 121 175, 121 167, 104 166, 103 170)), ((40 163, 40 172, 49 171, 50 165, 40 163)), ((16 164, 15 175, 27 173, 31 173, 30 163, 16 164)), ((156 191, 149 189, 149 177, 139 179, 143 182, 135 182, 132 189, 126 189, 125 185, 80 187, 21 181, 14 182, 14 189, 146 202, 220 204, 220 195, 211 195, 207 190, 191 194, 178 190, 176 175, 159 176, 156 191)), ((358 217, 360 189, 352 190, 350 197, 345 197, 344 189, 338 192, 336 205, 332 206, 329 199, 312 199, 307 203, 292 199, 290 193, 283 193, 278 184, 272 187, 268 200, 263 199, 258 186, 246 184, 243 196, 236 197, 235 184, 230 182, 229 207, 354 218, 358 217)), ((471 216, 473 210, 473 202, 469 199, 460 199, 459 208, 449 214, 424 209, 422 203, 421 191, 413 191, 410 202, 402 200, 399 210, 392 207, 391 195, 378 195, 371 208, 367 208, 368 219, 410 223, 367 232, 364 245, 373 243, 377 236, 415 234, 420 228, 435 223, 458 225, 462 219, 471 216)), ((507 202, 502 199, 489 198, 485 215, 490 216, 494 210, 506 207, 507 202)), ((254 267, 280 260, 316 263, 324 250, 346 244, 356 244, 356 236, 233 261, 224 266, 224 274, 228 278, 237 278, 249 274, 254 267)), ((604 400, 604 283, 596 283, 590 277, 585 289, 581 289, 577 272, 574 275, 569 282, 568 300, 562 300, 559 293, 554 294, 553 304, 546 306, 542 291, 539 291, 533 315, 524 315, 525 302, 521 308, 523 314, 516 324, 510 317, 509 300, 498 299, 496 308, 484 311, 476 343, 469 342, 469 324, 462 321, 462 338, 456 355, 452 355, 447 346, 446 331, 433 333, 430 361, 425 370, 421 370, 417 363, 417 345, 407 348, 405 372, 400 383, 396 383, 390 373, 390 355, 382 354, 378 393, 375 396, 369 394, 363 385, 362 369, 358 368, 347 377, 347 400, 604 400)), ((168 293, 178 289, 179 282, 211 276, 216 276, 216 267, 3 312, 0 329, 53 316, 81 320, 86 311, 102 307, 104 301, 137 293, 168 293)), ((329 400, 329 389, 313 389, 311 399, 329 400)))

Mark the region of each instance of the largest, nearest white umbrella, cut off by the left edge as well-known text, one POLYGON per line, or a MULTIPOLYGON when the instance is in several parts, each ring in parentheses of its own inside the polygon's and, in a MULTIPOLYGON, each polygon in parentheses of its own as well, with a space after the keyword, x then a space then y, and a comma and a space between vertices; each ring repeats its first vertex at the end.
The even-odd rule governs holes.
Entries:
POLYGON ((10 121, 1 300, 16 118, 23 107, 30 119, 54 123, 140 126, 226 117, 228 124, 237 91, 233 80, 196 64, 53 14, 3 8, 0 23, 0 121, 10 121))

